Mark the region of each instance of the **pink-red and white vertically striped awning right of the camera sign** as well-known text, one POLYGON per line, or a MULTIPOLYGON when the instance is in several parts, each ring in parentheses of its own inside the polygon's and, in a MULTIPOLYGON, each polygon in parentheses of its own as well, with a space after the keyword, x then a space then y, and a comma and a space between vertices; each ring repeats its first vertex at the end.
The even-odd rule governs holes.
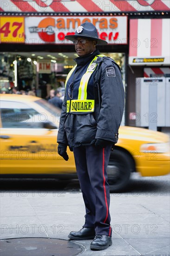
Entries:
POLYGON ((130 20, 129 64, 170 64, 170 19, 130 20))

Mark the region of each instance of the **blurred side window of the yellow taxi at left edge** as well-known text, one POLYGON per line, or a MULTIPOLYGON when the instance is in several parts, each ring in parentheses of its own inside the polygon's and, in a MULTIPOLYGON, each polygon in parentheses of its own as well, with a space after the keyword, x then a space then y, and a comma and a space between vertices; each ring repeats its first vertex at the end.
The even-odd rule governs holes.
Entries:
POLYGON ((0 101, 3 128, 42 128, 39 113, 22 102, 0 101))

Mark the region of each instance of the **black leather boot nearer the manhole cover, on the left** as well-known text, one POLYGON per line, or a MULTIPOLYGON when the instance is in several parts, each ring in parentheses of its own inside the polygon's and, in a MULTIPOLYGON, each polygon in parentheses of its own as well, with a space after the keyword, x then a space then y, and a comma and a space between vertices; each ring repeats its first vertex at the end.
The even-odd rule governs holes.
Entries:
POLYGON ((95 236, 94 228, 82 228, 79 231, 72 231, 68 235, 71 240, 87 240, 93 239, 95 236))

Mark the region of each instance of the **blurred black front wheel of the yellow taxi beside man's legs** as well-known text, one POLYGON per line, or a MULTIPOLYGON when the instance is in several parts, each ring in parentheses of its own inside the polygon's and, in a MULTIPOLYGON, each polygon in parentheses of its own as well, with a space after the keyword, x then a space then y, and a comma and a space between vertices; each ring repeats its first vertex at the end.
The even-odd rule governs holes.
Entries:
POLYGON ((122 150, 114 148, 107 166, 110 192, 121 192, 128 187, 131 176, 131 157, 122 150))

